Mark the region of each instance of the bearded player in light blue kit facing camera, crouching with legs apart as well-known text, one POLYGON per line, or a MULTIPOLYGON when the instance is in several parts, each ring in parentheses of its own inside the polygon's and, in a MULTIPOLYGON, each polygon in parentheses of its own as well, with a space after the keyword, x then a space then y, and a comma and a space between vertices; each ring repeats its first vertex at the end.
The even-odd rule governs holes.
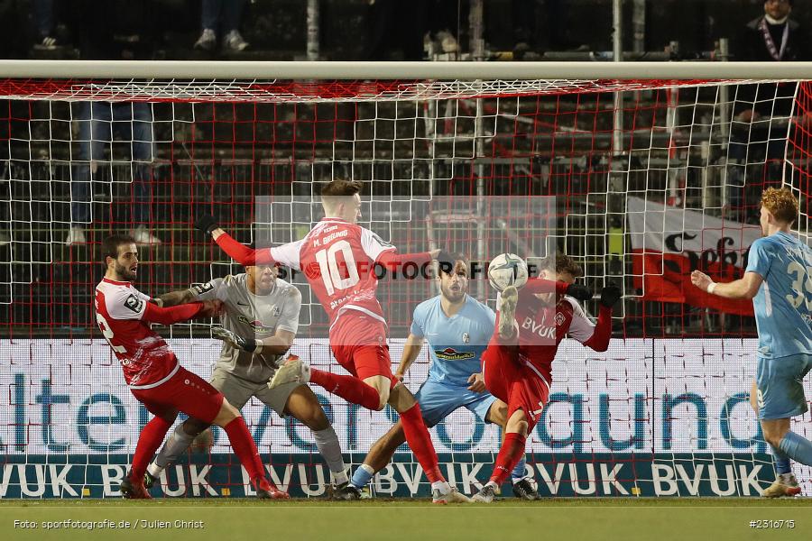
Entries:
MULTIPOLYGON (((411 333, 403 347, 401 364, 395 376, 401 381, 417 359, 423 341, 429 343, 429 379, 415 398, 426 426, 435 426, 458 408, 467 408, 486 422, 504 428, 507 406, 484 387, 480 357, 494 334, 496 315, 491 308, 468 296, 468 264, 465 256, 454 254, 451 272, 438 271, 440 294, 414 309, 411 333)), ((342 500, 357 500, 361 489, 392 460, 395 450, 406 441, 400 421, 373 445, 364 463, 355 470, 350 484, 337 493, 342 500)), ((524 500, 539 499, 525 477, 524 458, 512 472, 513 494, 524 500)))

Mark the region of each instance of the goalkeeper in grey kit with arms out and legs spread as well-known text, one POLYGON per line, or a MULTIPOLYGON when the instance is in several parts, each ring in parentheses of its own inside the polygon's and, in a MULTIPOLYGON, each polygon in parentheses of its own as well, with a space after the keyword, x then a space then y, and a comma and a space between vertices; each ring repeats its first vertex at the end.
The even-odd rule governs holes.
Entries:
MULTIPOLYGON (((237 409, 256 397, 280 417, 291 416, 308 426, 332 472, 333 483, 339 488, 345 485, 348 479, 338 436, 313 391, 302 383, 268 389, 268 381, 296 336, 299 289, 278 279, 275 266, 255 265, 245 267, 243 274, 161 295, 160 302, 169 307, 215 298, 223 301, 225 312, 220 319, 223 327, 212 329, 212 335, 224 340, 224 344, 211 384, 237 409)), ((195 418, 179 425, 147 469, 144 484, 151 486, 207 428, 207 423, 195 418)))

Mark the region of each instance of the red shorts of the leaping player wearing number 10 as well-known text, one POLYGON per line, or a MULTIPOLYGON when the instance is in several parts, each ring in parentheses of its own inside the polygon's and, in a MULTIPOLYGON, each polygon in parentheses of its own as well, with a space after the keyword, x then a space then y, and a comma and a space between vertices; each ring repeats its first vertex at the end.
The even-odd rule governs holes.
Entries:
POLYGON ((392 376, 386 326, 374 317, 347 312, 330 329, 330 349, 338 364, 359 380, 384 376, 394 386, 398 380, 392 376))

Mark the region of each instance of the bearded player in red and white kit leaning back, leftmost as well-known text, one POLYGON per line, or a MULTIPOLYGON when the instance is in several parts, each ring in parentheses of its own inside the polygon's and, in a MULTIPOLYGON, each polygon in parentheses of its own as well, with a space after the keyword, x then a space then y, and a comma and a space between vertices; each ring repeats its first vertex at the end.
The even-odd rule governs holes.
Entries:
POLYGON ((133 466, 121 483, 125 498, 148 499, 143 486, 147 464, 163 441, 178 412, 221 426, 234 452, 251 477, 261 498, 288 498, 265 478, 254 439, 240 412, 223 395, 180 366, 175 353, 163 338, 150 328, 151 323, 172 325, 194 317, 219 313, 218 300, 162 307, 161 302, 133 287, 138 273, 138 249, 127 235, 113 235, 104 244, 105 277, 96 287, 96 321, 113 353, 121 362, 125 381, 138 399, 155 417, 147 423, 135 446, 133 466))

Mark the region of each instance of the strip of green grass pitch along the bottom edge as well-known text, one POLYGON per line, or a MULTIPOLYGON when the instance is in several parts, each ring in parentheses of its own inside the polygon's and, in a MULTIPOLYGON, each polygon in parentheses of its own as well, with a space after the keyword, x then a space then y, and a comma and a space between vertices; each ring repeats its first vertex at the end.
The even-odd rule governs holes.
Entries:
POLYGON ((432 505, 429 500, 383 499, 0 500, 0 539, 9 540, 773 538, 812 539, 812 500, 555 498, 449 506, 432 505), (66 525, 61 522, 65 520, 85 524, 66 525), (106 526, 88 529, 91 521, 106 526))

